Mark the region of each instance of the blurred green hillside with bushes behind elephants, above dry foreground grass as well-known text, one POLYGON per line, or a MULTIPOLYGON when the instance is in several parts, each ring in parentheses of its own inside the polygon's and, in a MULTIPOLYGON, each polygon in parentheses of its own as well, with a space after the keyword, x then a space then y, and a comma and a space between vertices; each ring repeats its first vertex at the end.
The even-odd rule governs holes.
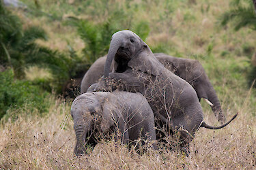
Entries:
POLYGON ((199 60, 224 109, 241 103, 236 96, 245 97, 255 80, 251 0, 20 2, 14 7, 0 0, 0 118, 31 101, 31 108, 47 112, 43 103, 51 93, 79 94, 87 69, 123 29, 137 33, 153 52, 199 60), (75 87, 66 93, 68 84, 75 87))

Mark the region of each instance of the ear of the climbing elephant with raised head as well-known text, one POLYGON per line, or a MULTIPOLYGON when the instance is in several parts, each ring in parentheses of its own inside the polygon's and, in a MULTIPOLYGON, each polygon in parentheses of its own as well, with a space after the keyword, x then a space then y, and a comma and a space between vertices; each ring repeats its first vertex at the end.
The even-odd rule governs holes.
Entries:
POLYGON ((145 50, 134 56, 129 62, 128 67, 143 71, 150 75, 159 75, 161 68, 164 66, 156 59, 148 46, 144 46, 145 50))

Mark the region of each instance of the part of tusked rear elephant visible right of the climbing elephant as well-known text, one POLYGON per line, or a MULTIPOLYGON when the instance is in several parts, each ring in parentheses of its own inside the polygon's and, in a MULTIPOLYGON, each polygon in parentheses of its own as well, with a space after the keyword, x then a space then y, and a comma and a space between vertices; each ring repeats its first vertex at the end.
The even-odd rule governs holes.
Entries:
POLYGON ((160 63, 163 63, 167 69, 173 71, 175 75, 186 80, 197 92, 198 99, 208 99, 213 105, 210 105, 214 115, 221 124, 226 122, 221 109, 221 103, 218 100, 216 92, 203 69, 203 66, 197 60, 177 58, 167 54, 154 54, 160 63))

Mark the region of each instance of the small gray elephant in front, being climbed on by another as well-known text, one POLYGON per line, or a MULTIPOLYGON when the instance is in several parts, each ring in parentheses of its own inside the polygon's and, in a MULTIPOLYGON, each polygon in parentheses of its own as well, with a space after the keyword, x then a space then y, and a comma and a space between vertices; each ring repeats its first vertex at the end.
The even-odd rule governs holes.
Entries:
MULTIPOLYGON (((119 131, 122 143, 132 143, 141 135, 156 140, 154 114, 147 100, 133 92, 87 92, 72 103, 76 146, 74 153, 84 154, 86 145, 96 146, 98 131, 119 131), (94 128, 98 127, 98 128, 94 128), (88 139, 89 138, 89 139, 88 139)), ((153 148, 157 149, 155 144, 153 148)))

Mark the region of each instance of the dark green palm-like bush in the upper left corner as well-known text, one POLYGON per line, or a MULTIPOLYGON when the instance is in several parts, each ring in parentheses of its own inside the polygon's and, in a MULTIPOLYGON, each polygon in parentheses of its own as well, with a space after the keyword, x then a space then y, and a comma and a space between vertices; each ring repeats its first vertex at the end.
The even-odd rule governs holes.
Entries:
POLYGON ((17 78, 23 78, 25 67, 30 65, 47 65, 55 73, 62 74, 63 69, 66 69, 66 58, 58 52, 39 46, 35 43, 37 39, 47 39, 44 30, 39 27, 23 30, 19 18, 6 10, 0 1, 0 64, 13 67, 17 78))

